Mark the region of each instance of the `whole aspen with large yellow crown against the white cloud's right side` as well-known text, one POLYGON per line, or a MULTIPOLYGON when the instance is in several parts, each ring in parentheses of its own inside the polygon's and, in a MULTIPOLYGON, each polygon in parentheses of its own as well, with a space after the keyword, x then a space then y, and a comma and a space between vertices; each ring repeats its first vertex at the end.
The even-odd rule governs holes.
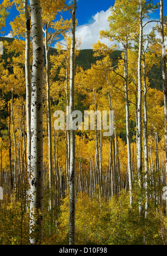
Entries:
MULTIPOLYGON (((109 16, 110 31, 101 31, 101 37, 107 37, 111 41, 119 42, 124 50, 124 83, 125 83, 125 104, 126 104, 126 139, 127 139, 127 158, 129 173, 129 192, 130 205, 132 204, 132 168, 131 168, 131 142, 129 125, 129 96, 128 96, 128 44, 136 27, 137 1, 115 1, 114 7, 111 7, 111 16, 109 16), (124 26, 122 27, 122 24, 124 26)), ((123 78, 123 76, 122 76, 123 78)))

